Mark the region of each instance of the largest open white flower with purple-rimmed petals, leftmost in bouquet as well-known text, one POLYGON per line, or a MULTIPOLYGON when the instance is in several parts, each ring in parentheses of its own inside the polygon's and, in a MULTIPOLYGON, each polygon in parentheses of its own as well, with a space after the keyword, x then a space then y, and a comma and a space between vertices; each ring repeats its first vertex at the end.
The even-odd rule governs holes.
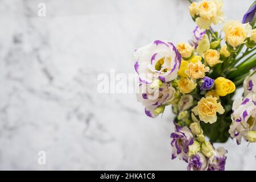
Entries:
POLYGON ((136 61, 134 68, 139 80, 151 84, 153 80, 162 82, 172 81, 177 77, 181 56, 174 44, 167 41, 155 40, 134 52, 136 61))

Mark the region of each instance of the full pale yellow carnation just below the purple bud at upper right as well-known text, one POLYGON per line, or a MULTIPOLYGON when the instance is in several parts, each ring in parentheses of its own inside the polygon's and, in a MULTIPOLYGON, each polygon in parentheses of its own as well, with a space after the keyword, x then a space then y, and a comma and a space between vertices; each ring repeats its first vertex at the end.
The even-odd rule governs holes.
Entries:
POLYGON ((251 35, 250 24, 242 24, 240 21, 236 20, 226 22, 222 30, 225 33, 224 40, 234 49, 245 43, 245 39, 251 35))

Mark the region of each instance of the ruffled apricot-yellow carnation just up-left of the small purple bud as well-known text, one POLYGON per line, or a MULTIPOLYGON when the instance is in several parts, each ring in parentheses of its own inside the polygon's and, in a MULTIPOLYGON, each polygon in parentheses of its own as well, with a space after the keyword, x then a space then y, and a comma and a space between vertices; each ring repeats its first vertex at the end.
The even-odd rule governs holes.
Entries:
POLYGON ((209 67, 205 67, 201 61, 197 61, 196 63, 189 63, 185 73, 191 78, 199 79, 203 78, 205 72, 209 72, 209 70, 209 67))

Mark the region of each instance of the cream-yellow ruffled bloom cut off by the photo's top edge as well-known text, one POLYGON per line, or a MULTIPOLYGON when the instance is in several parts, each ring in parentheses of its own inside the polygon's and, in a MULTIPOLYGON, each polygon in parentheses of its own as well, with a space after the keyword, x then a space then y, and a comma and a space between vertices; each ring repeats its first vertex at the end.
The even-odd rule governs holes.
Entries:
POLYGON ((189 7, 189 12, 193 18, 195 18, 195 15, 199 16, 196 18, 196 23, 200 28, 209 29, 212 23, 220 24, 224 22, 222 6, 222 0, 194 2, 189 7))

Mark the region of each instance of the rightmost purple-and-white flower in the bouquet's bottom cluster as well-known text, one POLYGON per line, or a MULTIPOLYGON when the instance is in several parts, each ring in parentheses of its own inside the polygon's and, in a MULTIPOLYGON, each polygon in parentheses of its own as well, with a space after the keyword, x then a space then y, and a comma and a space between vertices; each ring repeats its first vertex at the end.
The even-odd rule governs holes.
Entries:
POLYGON ((214 151, 214 155, 209 158, 209 166, 208 171, 224 171, 226 164, 226 156, 228 151, 223 147, 218 147, 216 151, 214 151))

